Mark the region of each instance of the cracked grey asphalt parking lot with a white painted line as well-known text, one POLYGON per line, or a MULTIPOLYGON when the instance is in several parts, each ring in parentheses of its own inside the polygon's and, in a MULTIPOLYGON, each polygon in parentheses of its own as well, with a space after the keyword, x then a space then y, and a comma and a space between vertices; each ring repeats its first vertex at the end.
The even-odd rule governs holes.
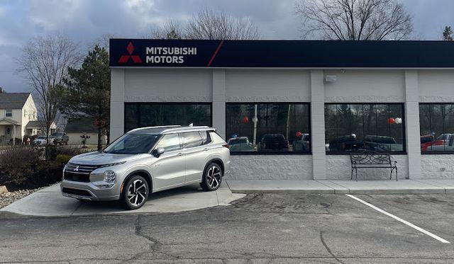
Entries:
POLYGON ((0 219, 1 262, 453 263, 454 195, 256 194, 170 214, 0 219))

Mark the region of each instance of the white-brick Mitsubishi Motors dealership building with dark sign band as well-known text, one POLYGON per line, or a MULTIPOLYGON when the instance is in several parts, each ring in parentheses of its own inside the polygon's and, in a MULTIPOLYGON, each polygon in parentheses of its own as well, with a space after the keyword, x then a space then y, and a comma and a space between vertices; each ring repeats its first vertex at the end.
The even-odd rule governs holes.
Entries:
POLYGON ((231 179, 350 179, 356 151, 454 178, 454 42, 111 39, 110 67, 111 140, 213 126, 231 179))

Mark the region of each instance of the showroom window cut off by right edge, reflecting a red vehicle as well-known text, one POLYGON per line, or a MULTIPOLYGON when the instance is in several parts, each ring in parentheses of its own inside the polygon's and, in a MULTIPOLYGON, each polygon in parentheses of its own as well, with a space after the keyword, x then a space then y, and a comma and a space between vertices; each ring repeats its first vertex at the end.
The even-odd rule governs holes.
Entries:
POLYGON ((420 103, 422 153, 454 152, 454 104, 420 103))

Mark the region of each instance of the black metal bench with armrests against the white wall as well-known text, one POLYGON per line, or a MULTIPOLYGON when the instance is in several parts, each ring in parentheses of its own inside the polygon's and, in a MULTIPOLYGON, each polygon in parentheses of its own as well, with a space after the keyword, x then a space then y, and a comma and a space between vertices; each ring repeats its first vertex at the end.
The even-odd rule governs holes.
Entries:
POLYGON ((397 180, 397 161, 392 161, 391 156, 385 153, 373 151, 364 151, 360 153, 351 153, 350 161, 352 163, 352 175, 350 180, 353 180, 353 171, 355 178, 358 181, 358 168, 389 168, 389 180, 392 179, 392 172, 396 171, 397 180))

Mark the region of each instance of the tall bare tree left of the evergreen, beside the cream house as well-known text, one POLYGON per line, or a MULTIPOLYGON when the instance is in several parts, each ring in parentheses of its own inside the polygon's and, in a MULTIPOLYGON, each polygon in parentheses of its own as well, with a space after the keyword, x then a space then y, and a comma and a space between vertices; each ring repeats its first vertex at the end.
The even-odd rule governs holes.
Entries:
POLYGON ((47 142, 52 124, 58 117, 67 69, 75 67, 79 60, 77 44, 60 34, 29 40, 23 46, 21 56, 17 58, 18 71, 24 73, 37 99, 38 122, 45 130, 47 142))

